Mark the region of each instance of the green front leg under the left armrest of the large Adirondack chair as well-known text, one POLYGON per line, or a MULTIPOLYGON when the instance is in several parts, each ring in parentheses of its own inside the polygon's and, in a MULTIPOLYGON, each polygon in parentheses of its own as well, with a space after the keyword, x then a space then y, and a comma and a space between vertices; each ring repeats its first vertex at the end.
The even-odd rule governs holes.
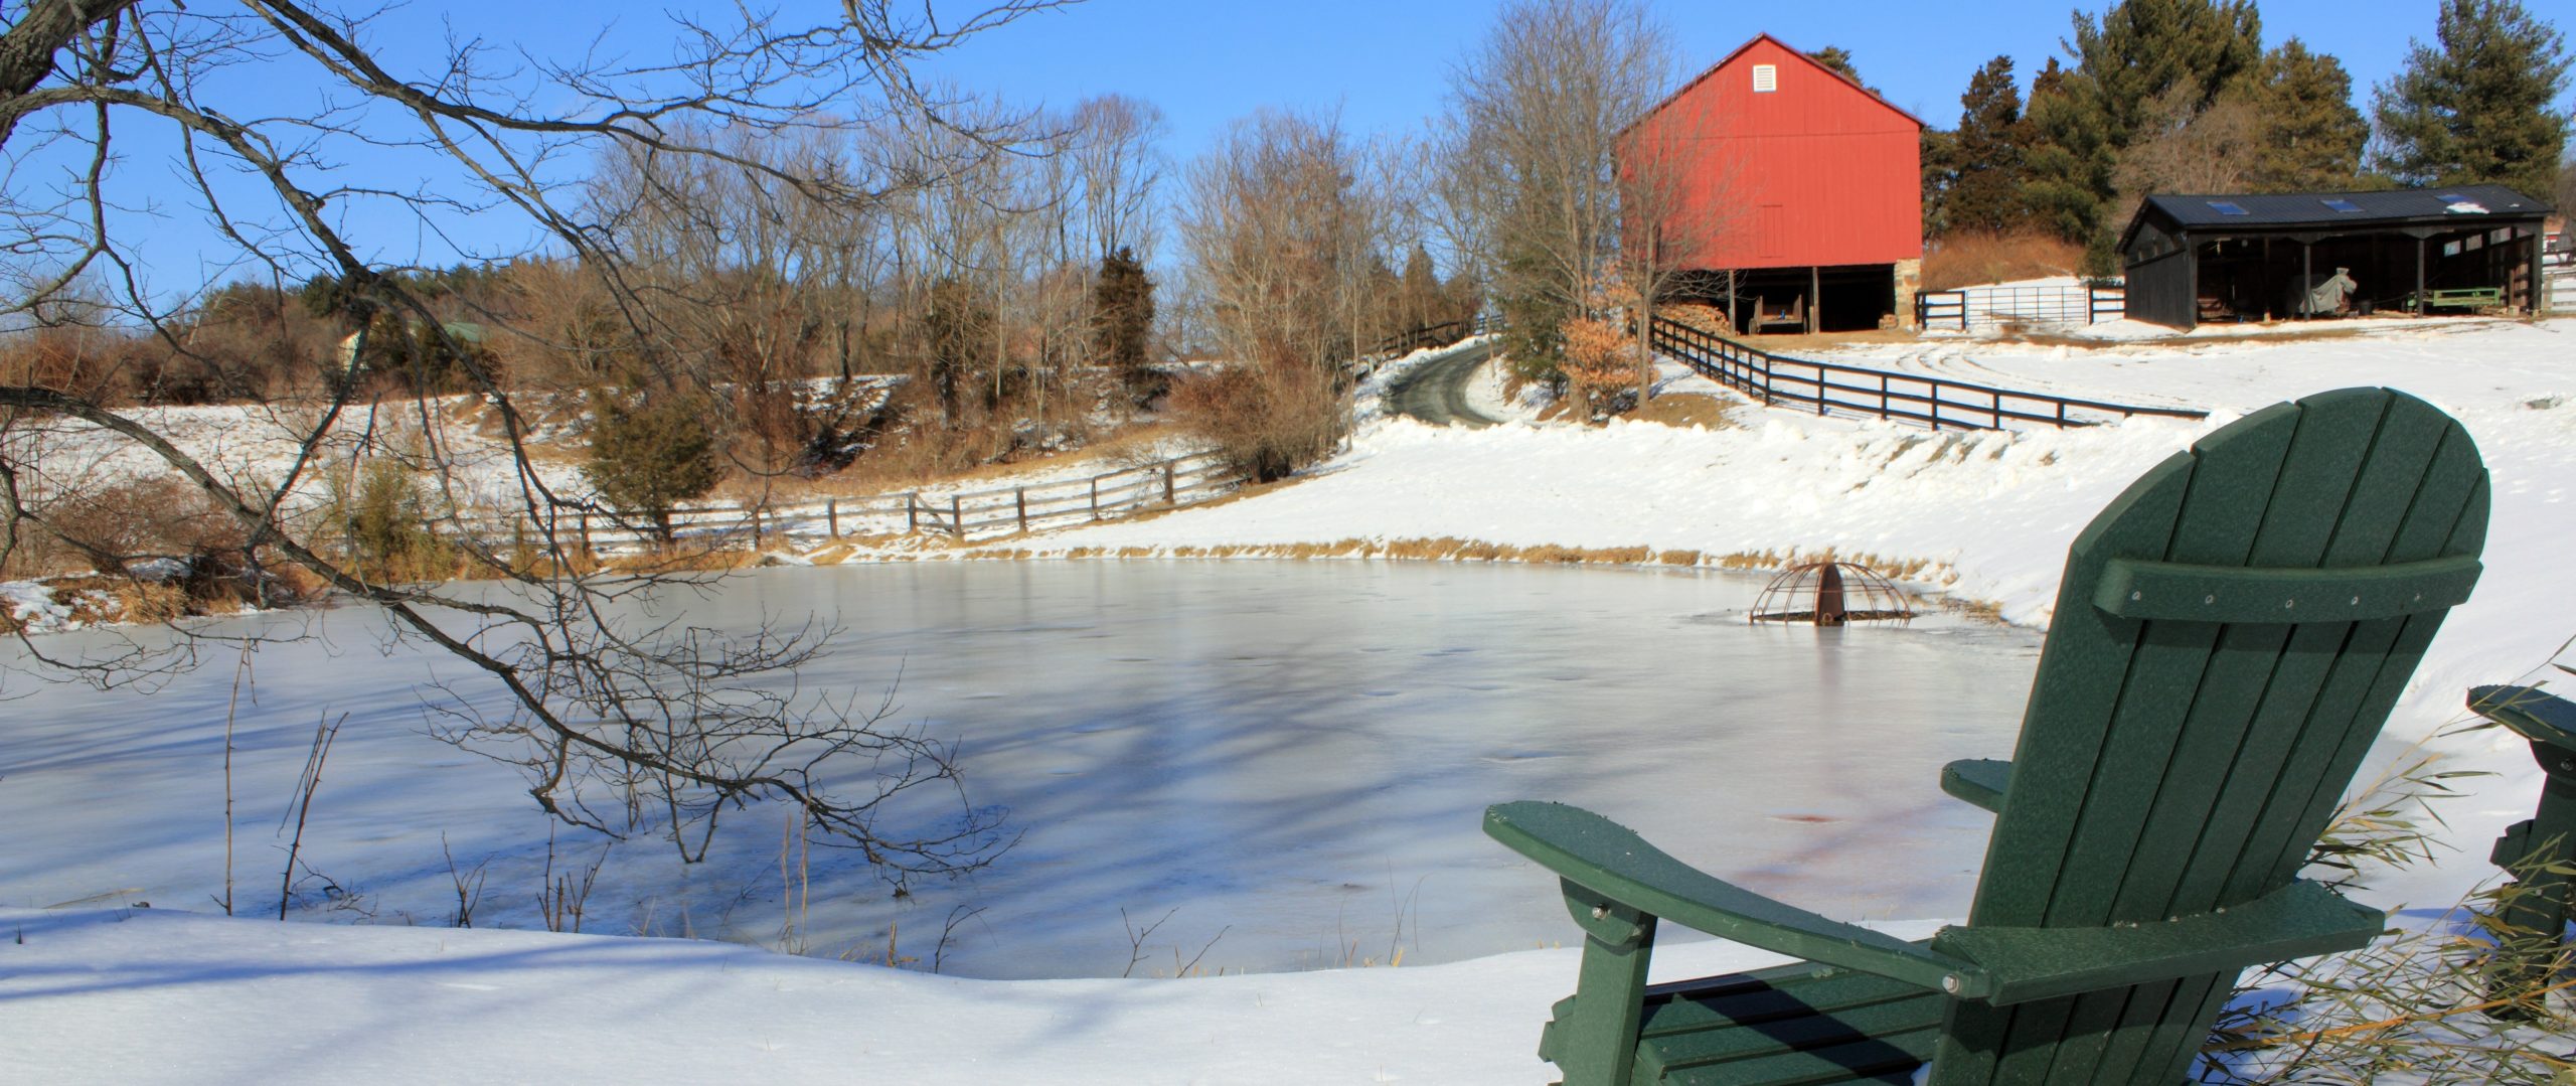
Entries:
POLYGON ((1628 1086, 1656 921, 1574 882, 1564 890, 1566 913, 1584 929, 1584 967, 1574 983, 1574 1011, 1551 1029, 1553 1050, 1543 1055, 1564 1071, 1564 1086, 1628 1086))

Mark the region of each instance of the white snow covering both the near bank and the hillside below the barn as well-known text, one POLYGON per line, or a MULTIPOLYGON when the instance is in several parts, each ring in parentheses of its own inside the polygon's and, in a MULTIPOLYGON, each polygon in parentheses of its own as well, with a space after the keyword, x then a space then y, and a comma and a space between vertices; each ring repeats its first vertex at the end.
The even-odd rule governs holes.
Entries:
MULTIPOLYGON (((1435 431, 1378 418, 1298 485, 1010 547, 1154 555, 1450 537, 1703 557, 1837 549, 1922 562, 1917 583, 2040 627, 2066 542, 2148 464, 2282 397, 2398 387, 2468 423, 2496 485, 2486 580, 2416 671, 2380 751, 2385 761, 2421 743, 2450 769, 2494 774, 2442 810, 2458 851, 2367 895, 2424 918, 2491 874, 2486 841, 2527 818, 2540 787, 2519 740, 2439 733, 2463 720, 2465 686, 2535 676, 2576 632, 2576 578, 2561 557, 2576 537, 2571 335, 2576 320, 2380 320, 2099 348, 1850 346, 1832 359, 2213 418, 1937 436, 1757 408, 1718 431, 1435 431)), ((41 769, 0 769, 18 771, 41 769)), ((1687 975, 1716 960, 1744 957, 1700 944, 1662 965, 1687 975)), ((33 1068, 33 1081, 1546 1081, 1551 1068, 1528 1052, 1571 972, 1571 952, 1533 949, 1396 970, 987 983, 693 942, 18 908, 0 911, 0 1065, 33 1068), (155 1040, 137 1045, 142 1029, 155 1040)))

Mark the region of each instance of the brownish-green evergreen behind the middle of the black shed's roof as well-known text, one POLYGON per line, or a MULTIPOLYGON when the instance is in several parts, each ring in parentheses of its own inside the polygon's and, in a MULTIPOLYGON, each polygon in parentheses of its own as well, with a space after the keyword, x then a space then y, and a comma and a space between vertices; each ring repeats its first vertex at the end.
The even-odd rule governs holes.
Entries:
POLYGON ((2370 124, 2352 108, 2352 75, 2298 39, 2267 52, 2246 90, 2262 142, 2251 188, 2264 193, 2354 188, 2370 124))

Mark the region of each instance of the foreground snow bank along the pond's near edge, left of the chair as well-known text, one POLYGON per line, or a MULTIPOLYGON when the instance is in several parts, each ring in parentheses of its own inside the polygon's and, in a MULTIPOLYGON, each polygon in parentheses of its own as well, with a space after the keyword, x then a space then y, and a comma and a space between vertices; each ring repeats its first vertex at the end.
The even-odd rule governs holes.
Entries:
MULTIPOLYGON (((1553 996, 1533 996, 1571 991, 1577 957, 997 983, 693 939, 0 911, 0 1068, 129 1086, 1543 1083, 1553 996)), ((1672 947, 1656 978, 1770 960, 1672 947)))

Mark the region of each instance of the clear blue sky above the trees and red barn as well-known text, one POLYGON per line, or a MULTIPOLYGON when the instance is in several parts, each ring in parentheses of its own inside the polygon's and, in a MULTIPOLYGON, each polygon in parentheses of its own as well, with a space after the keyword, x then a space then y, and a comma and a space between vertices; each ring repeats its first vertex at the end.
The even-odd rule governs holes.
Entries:
MULTIPOLYGON (((907 0, 896 0, 907 3, 907 0)), ((951 0, 938 0, 951 10, 951 0)), ((801 8, 837 8, 801 0, 801 8)), ((1157 103, 1170 119, 1167 152, 1188 160, 1224 126, 1262 106, 1340 111, 1358 134, 1419 132, 1440 111, 1450 64, 1484 34, 1494 0, 1095 0, 1030 15, 974 39, 963 49, 933 57, 925 77, 951 80, 966 90, 997 93, 1020 106, 1069 106, 1097 93, 1126 93, 1157 103)), ((2087 5, 2092 10, 2092 5, 2087 5)), ((2545 0, 2532 10, 2561 26, 2576 23, 2576 3, 2545 0)), ((2012 54, 2020 77, 2061 54, 2071 28, 2066 0, 1989 0, 1984 5, 1924 3, 1741 3, 1741 0, 1662 0, 1654 10, 1674 34, 1680 62, 1695 72, 1713 64, 1754 34, 1772 34, 1798 49, 1844 46, 1862 77, 1896 106, 1935 126, 1958 121, 1958 95, 1968 75, 1994 54, 2012 54)), ((2311 49, 2342 57, 2367 108, 2367 88, 2403 64, 2409 39, 2432 39, 2434 0, 2275 0, 2262 8, 2264 41, 2293 34, 2311 49)), ((574 57, 592 39, 626 49, 629 59, 649 62, 667 49, 662 8, 636 8, 616 0, 528 3, 415 3, 389 10, 366 39, 384 52, 389 67, 420 72, 435 62, 422 46, 443 36, 482 36, 492 46, 520 46, 538 57, 574 57), (544 13, 541 18, 528 18, 544 13)), ((247 75, 247 70, 245 70, 247 75)), ((1687 75, 1687 72, 1685 72, 1687 75)), ((263 88, 283 101, 296 88, 263 88)), ((291 114, 289 114, 291 116, 291 114)), ((129 183, 167 186, 155 160, 126 142, 129 183)), ((381 163, 374 163, 384 170, 381 163)), ((371 163, 348 157, 350 173, 371 163)), ((410 178, 417 178, 417 165, 410 178)), ((394 168, 392 173, 402 173, 394 168)), ((438 186, 435 178, 428 181, 438 186)), ((149 263, 160 289, 185 289, 209 273, 229 279, 216 263, 219 240, 183 206, 173 186, 155 193, 165 219, 149 230, 149 263)), ((376 217, 358 206, 350 227, 358 245, 392 263, 451 263, 456 250, 435 230, 410 217, 376 217)), ((500 253, 531 235, 513 214, 451 217, 438 230, 453 240, 500 253)))

